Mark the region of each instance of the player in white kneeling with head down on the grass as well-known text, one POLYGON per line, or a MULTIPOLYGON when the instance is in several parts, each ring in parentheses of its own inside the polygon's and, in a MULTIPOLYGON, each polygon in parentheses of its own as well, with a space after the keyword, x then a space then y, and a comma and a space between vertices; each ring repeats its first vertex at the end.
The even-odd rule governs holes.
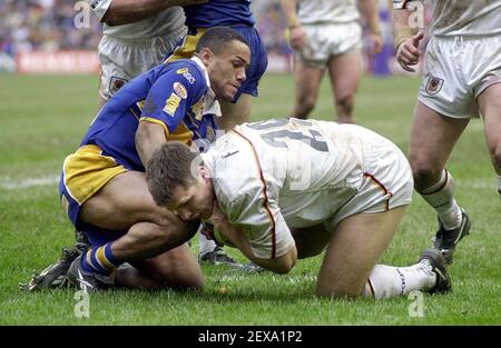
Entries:
POLYGON ((157 205, 213 223, 218 240, 264 268, 286 274, 297 258, 326 249, 320 296, 451 287, 436 249, 411 267, 376 265, 413 180, 399 148, 369 129, 298 119, 244 123, 199 156, 181 143, 163 146, 147 168, 157 205))

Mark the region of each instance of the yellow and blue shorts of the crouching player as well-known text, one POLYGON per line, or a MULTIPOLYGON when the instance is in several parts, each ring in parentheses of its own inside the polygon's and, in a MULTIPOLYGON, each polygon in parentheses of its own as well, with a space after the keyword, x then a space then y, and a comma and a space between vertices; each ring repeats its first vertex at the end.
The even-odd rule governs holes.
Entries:
POLYGON ((62 207, 75 228, 87 233, 92 247, 116 240, 127 231, 107 230, 80 221, 81 206, 109 180, 126 171, 112 157, 101 155, 101 149, 95 145, 80 147, 65 160, 59 181, 62 207))

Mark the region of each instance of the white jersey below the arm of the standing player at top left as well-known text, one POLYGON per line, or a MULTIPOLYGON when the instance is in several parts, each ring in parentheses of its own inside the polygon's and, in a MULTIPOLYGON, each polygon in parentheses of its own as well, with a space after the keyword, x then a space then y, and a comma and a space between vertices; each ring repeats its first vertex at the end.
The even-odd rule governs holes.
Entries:
MULTIPOLYGON (((87 0, 99 21, 105 17, 111 1, 112 0, 87 0)), ((184 23, 185 13, 183 8, 171 7, 136 23, 115 27, 104 24, 102 31, 106 36, 117 39, 148 39, 166 36, 181 28, 184 23)))

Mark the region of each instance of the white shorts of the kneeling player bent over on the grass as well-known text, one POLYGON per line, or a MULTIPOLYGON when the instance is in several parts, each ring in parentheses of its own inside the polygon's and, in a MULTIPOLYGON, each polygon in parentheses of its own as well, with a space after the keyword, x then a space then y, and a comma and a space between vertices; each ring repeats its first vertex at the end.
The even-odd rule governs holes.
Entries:
MULTIPOLYGON (((346 127, 346 126, 344 126, 346 127)), ((357 213, 384 212, 409 206, 414 191, 411 166, 396 145, 369 129, 356 128, 363 140, 363 168, 352 175, 356 195, 324 222, 327 230, 357 213), (362 175, 362 180, 356 177, 362 175)))

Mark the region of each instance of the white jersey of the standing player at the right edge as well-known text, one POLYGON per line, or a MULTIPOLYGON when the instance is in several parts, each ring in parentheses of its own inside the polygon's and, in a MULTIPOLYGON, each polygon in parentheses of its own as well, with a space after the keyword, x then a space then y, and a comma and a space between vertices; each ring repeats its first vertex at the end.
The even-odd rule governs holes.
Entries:
MULTIPOLYGON (((394 0, 402 9, 410 1, 394 0)), ((501 34, 501 0, 432 0, 431 32, 438 37, 501 34)))

